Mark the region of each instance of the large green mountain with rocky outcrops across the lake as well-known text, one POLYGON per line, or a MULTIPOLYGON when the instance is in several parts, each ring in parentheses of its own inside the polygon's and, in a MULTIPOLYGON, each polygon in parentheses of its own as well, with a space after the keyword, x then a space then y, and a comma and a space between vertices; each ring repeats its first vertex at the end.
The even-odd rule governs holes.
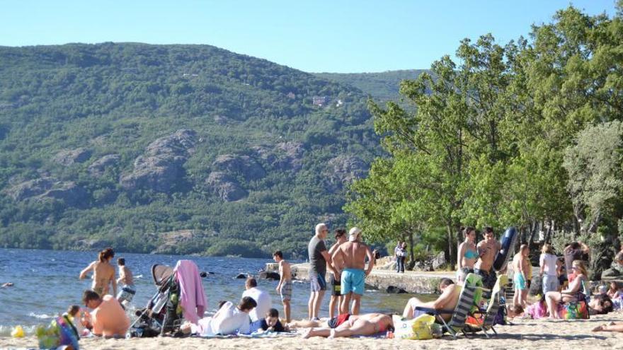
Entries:
POLYGON ((0 246, 302 255, 382 152, 365 100, 207 45, 0 47, 0 246))

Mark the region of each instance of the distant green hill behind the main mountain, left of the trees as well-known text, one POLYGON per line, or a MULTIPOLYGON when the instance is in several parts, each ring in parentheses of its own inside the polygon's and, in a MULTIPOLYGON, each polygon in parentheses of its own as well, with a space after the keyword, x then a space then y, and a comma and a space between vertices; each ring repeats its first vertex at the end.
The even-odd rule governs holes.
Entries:
POLYGON ((389 100, 400 100, 399 85, 403 80, 415 80, 420 74, 430 71, 426 69, 404 69, 384 71, 381 73, 316 73, 315 76, 336 81, 337 83, 355 86, 369 94, 377 103, 389 100))

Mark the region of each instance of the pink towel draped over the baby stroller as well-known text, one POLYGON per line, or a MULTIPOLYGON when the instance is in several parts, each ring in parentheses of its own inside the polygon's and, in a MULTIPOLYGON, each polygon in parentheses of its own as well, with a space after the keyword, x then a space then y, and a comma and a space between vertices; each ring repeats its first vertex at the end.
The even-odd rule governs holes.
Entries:
POLYGON ((190 260, 179 260, 174 271, 180 284, 180 305, 184 310, 184 318, 196 325, 207 308, 197 264, 190 260))

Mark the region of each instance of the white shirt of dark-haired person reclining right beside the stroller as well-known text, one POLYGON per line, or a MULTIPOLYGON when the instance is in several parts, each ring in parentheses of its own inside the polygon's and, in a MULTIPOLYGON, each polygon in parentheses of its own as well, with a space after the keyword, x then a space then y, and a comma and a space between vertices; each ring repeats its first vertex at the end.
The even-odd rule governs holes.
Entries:
POLYGON ((251 320, 247 313, 243 313, 231 301, 224 303, 214 317, 204 317, 198 321, 198 325, 191 325, 193 333, 203 336, 216 334, 234 334, 236 329, 241 333, 248 333, 251 327, 251 320))

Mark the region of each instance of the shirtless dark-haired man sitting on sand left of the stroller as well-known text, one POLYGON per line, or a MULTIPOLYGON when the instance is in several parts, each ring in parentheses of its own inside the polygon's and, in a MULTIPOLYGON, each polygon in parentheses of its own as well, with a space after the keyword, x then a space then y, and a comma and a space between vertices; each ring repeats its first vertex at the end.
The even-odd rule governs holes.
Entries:
POLYGON ((87 308, 93 309, 93 334, 103 337, 125 337, 130 328, 130 317, 127 317, 121 304, 113 296, 99 296, 94 291, 84 291, 82 301, 87 308))

